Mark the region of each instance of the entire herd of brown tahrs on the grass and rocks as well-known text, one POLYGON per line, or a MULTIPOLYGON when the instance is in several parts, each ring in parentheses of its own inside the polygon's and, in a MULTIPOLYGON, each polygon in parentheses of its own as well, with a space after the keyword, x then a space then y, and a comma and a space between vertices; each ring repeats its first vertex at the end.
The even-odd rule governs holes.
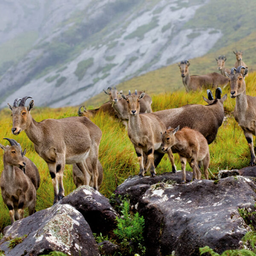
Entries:
MULTIPOLYGON (((256 134, 256 97, 246 95, 244 78, 248 68, 242 61, 243 52, 234 51, 234 54, 236 63, 231 70, 225 67, 227 58, 224 55, 216 58, 221 74, 214 72, 190 76, 190 62, 183 60, 178 64, 187 92, 202 88, 215 89, 215 97, 210 89, 207 90, 207 98, 203 97, 208 105, 191 104, 152 112, 151 97, 145 92, 135 90, 125 95, 116 87, 108 87, 104 92, 108 94, 109 101, 98 109, 87 110, 81 106, 79 116, 36 122, 30 113, 34 101, 31 100, 26 107, 25 102, 31 97, 25 96, 15 99, 13 105, 8 104, 12 111, 12 134, 18 135, 24 130, 34 144, 35 151, 46 161, 52 178, 54 204, 64 197, 65 164, 73 165, 76 187, 89 185, 98 190, 102 183, 103 169, 98 159, 102 131, 90 121, 100 111, 119 118, 125 125, 138 157, 140 177, 148 169, 151 177, 155 177, 155 168, 164 154, 168 154, 172 172, 175 173, 173 153, 177 153, 182 167, 182 183, 186 183, 186 162, 193 170, 193 180, 201 179, 201 166, 204 177, 208 179, 208 144, 215 140, 222 124, 223 103, 227 99, 227 94, 221 97, 221 87, 230 83, 230 97, 236 98, 234 117, 247 139, 250 165, 255 165, 253 134, 256 134)), ((40 176, 35 164, 25 157, 26 149, 22 150, 13 139, 4 139, 10 145, 0 144, 4 150, 0 188, 13 223, 23 218, 25 208, 28 208, 29 215, 35 212, 40 176)))

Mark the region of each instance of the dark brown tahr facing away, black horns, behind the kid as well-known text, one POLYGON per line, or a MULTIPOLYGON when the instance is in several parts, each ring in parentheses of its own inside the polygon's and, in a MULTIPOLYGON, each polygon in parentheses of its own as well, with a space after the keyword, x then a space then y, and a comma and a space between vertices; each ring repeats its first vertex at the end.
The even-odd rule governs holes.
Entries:
MULTIPOLYGON (((185 126, 199 131, 210 144, 215 140, 218 133, 218 128, 221 126, 224 119, 223 102, 227 99, 227 94, 221 98, 221 88, 218 87, 215 91, 215 99, 213 98, 211 90, 207 90, 208 99, 203 99, 208 105, 190 104, 180 108, 171 108, 162 111, 153 112, 164 123, 166 128, 185 126)), ((155 166, 160 163, 164 154, 156 152, 155 166)))

